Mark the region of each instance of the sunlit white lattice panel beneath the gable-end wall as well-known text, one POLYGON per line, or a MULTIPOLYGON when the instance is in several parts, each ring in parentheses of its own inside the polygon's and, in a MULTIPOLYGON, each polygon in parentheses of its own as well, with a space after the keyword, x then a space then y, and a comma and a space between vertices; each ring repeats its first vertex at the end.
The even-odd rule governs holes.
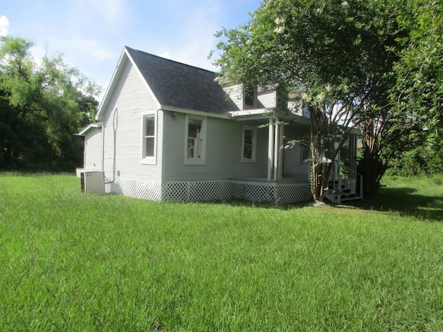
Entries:
POLYGON ((114 183, 111 183, 110 192, 135 197, 136 199, 149 199, 160 201, 161 183, 156 181, 146 181, 137 178, 121 178, 118 176, 114 183))

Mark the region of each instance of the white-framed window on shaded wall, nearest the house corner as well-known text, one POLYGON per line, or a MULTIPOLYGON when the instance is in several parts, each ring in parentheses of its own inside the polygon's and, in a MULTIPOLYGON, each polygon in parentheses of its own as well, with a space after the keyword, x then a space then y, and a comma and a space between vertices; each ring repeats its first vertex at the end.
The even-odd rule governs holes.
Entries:
POLYGON ((204 165, 206 154, 206 118, 186 114, 185 164, 204 165))

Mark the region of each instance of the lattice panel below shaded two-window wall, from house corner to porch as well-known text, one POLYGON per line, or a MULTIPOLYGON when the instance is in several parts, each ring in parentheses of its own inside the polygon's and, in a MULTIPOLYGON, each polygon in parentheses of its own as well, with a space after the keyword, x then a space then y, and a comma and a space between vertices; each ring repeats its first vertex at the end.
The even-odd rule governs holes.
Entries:
POLYGON ((230 181, 166 181, 165 201, 226 201, 232 198, 230 181))

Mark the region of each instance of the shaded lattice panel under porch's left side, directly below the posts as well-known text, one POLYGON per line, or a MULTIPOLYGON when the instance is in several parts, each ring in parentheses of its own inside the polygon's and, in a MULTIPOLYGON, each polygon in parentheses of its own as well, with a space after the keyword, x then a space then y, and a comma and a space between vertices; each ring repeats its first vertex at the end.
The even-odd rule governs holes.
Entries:
POLYGON ((256 202, 275 202, 277 188, 272 182, 234 181, 233 197, 256 202))

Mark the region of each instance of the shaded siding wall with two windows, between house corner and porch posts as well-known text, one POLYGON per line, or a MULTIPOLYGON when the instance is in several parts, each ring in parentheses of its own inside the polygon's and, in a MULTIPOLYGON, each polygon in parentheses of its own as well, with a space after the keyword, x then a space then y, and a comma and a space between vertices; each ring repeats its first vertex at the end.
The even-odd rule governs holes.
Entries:
POLYGON ((255 163, 242 163, 243 124, 207 117, 206 165, 184 165, 185 115, 164 113, 163 181, 216 181, 266 177, 267 129, 257 129, 255 163))

